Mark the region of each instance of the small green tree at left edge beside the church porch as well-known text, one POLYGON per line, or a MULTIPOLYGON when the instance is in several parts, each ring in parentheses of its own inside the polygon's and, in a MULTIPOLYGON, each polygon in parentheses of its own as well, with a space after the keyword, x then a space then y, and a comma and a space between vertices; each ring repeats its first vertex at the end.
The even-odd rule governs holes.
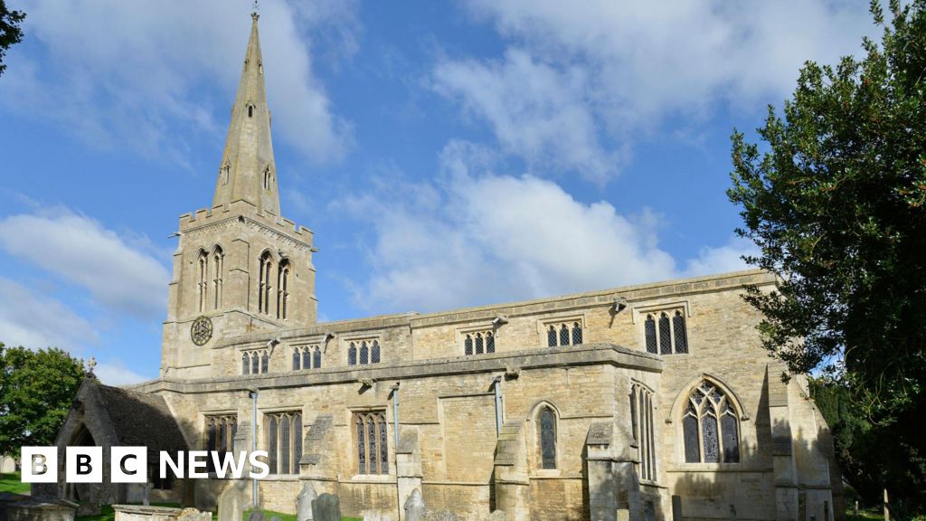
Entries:
POLYGON ((0 343, 0 454, 54 445, 83 376, 83 362, 61 349, 0 343))

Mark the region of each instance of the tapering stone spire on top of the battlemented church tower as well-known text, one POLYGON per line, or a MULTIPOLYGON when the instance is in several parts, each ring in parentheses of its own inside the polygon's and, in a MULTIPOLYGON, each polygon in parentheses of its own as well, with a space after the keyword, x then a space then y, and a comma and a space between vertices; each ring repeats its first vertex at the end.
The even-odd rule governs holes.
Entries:
POLYGON ((277 171, 270 138, 270 111, 264 88, 264 65, 257 35, 257 12, 251 14, 244 70, 232 107, 232 123, 219 164, 219 181, 212 206, 239 200, 258 211, 280 215, 277 171))

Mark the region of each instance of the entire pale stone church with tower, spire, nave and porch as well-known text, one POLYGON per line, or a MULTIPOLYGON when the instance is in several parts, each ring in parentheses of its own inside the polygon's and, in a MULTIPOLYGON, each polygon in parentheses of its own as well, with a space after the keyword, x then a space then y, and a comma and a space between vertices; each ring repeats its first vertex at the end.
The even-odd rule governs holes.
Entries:
MULTIPOLYGON (((414 489, 461 520, 842 517, 828 427, 741 298, 769 273, 319 323, 263 73, 254 15, 212 204, 180 218, 160 376, 88 380, 59 446, 254 446, 259 504, 290 513, 308 482, 344 515, 394 521, 414 489)), ((158 497, 206 508, 229 483, 153 477, 158 497)))

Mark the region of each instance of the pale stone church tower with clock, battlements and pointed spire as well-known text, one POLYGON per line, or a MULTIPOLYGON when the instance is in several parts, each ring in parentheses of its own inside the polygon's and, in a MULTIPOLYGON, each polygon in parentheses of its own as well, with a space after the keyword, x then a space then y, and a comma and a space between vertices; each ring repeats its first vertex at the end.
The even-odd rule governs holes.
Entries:
POLYGON ((212 207, 181 215, 161 375, 231 375, 223 337, 315 324, 312 232, 282 218, 264 64, 251 35, 212 207))

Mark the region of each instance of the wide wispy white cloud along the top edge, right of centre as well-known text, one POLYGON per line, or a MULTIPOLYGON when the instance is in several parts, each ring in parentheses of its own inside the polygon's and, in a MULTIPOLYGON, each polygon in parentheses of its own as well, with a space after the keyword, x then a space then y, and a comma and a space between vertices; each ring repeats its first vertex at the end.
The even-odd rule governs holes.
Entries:
POLYGON ((595 181, 669 116, 778 103, 805 60, 857 54, 875 32, 867 5, 847 1, 467 6, 494 23, 505 55, 443 59, 434 88, 488 121, 507 152, 595 181))

